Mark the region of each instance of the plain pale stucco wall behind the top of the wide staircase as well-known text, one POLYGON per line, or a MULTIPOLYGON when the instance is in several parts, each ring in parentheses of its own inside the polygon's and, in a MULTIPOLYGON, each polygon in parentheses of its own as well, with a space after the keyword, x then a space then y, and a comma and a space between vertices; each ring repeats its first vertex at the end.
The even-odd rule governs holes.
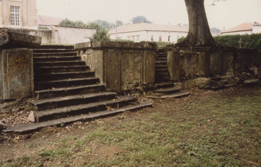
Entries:
POLYGON ((73 28, 55 26, 58 30, 58 43, 59 44, 76 44, 84 42, 84 37, 93 38, 96 29, 89 28, 73 28))

